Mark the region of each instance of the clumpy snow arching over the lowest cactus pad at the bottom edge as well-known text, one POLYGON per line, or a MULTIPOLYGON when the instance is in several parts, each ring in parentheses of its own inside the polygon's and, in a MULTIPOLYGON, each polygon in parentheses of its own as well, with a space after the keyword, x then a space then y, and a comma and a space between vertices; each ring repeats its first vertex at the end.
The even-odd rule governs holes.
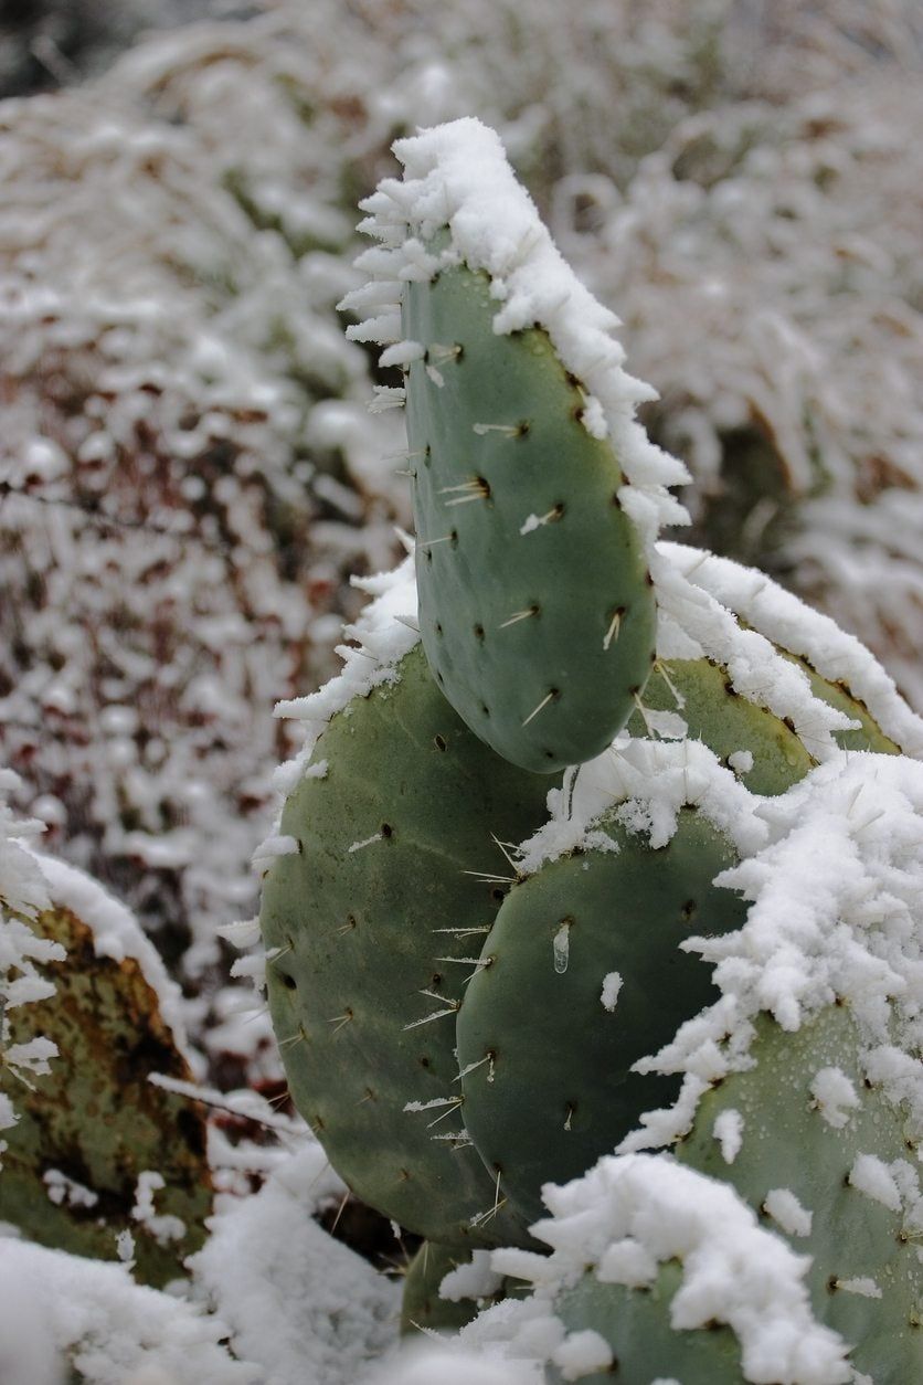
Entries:
POLYGON ((462 1341, 500 1339, 512 1357, 560 1360, 566 1339, 552 1345, 555 1321, 563 1332, 556 1307, 588 1269, 602 1283, 639 1287, 677 1259, 682 1281, 670 1305, 673 1327, 726 1323, 740 1343, 746 1381, 841 1385, 852 1378, 846 1342, 811 1312, 810 1259, 764 1230, 729 1186, 666 1155, 610 1155, 565 1187, 548 1184, 542 1197, 552 1216, 533 1231, 551 1256, 493 1252, 495 1269, 530 1280, 534 1296, 490 1309, 462 1341), (613 1248, 634 1253, 613 1256, 613 1248))

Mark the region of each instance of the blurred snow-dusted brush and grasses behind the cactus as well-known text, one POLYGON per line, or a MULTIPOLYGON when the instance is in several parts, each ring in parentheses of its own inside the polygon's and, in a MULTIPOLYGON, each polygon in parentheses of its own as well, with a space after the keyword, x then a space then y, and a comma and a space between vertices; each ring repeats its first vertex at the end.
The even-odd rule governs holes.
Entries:
POLYGON ((392 141, 500 130, 660 393, 675 537, 923 712, 922 73, 917 0, 0 3, 0 765, 219 1084, 280 1076, 216 933, 298 748, 273 705, 408 524, 396 381, 335 310, 392 141))

